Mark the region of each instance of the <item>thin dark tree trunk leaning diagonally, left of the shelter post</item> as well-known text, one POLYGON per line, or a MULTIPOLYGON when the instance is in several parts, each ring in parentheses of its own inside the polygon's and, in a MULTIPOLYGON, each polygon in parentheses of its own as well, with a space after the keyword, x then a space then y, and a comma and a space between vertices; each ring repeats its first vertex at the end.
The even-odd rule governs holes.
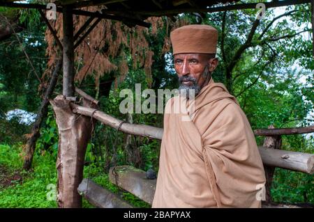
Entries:
POLYGON ((31 129, 31 136, 27 141, 27 145, 25 148, 24 164, 23 164, 23 168, 27 171, 31 168, 31 162, 33 161, 33 153, 35 152, 35 148, 36 148, 36 141, 40 136, 40 126, 43 120, 47 116, 47 107, 49 104, 49 99, 52 93, 54 92, 54 88, 57 85, 61 66, 62 66, 62 58, 60 58, 57 61, 57 65, 54 68, 54 72, 52 73, 49 86, 45 92, 45 96, 43 98, 43 101, 41 102, 40 109, 37 113, 36 121, 34 122, 33 127, 31 129))

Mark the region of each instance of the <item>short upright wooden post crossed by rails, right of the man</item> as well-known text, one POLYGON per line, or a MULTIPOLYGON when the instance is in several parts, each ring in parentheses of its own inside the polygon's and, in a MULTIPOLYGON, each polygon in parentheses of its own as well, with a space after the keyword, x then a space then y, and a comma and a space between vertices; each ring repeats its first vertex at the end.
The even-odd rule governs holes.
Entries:
MULTIPOLYGON (((268 128, 274 129, 275 127, 274 127, 274 125, 270 125, 268 128)), ((263 143, 263 147, 269 148, 269 149, 281 149, 281 135, 266 136, 264 143, 263 143)), ((275 168, 276 167, 274 167, 274 166, 266 166, 264 164, 264 170, 265 170, 265 176, 266 176, 266 184, 265 184, 266 203, 272 202, 271 183, 273 182, 275 168)))

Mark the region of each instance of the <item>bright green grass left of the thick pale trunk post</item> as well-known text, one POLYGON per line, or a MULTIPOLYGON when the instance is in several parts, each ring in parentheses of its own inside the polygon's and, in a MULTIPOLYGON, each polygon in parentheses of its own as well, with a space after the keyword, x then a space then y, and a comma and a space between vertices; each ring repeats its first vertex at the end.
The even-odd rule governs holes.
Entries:
MULTIPOLYGON (((21 146, 0 145, 0 165, 21 168, 21 146)), ((57 207, 55 201, 47 200, 48 184, 56 184, 55 161, 50 154, 36 154, 33 172, 22 172, 22 184, 0 189, 0 207, 57 207)))

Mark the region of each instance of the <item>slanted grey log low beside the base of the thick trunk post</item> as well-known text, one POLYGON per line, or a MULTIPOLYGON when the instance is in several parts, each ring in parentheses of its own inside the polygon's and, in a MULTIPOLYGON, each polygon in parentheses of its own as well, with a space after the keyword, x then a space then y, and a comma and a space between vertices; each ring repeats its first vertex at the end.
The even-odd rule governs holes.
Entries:
POLYGON ((90 179, 84 179, 77 188, 77 192, 84 196, 91 205, 100 208, 133 208, 117 194, 100 187, 90 179))

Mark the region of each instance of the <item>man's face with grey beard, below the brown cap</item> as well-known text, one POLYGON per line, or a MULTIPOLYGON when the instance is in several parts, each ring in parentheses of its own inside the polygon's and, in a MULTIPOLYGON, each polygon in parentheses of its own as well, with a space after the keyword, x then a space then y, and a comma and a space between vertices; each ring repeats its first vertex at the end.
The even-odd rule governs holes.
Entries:
POLYGON ((179 77, 179 90, 195 90, 195 95, 206 86, 211 78, 211 72, 216 68, 217 59, 210 54, 176 54, 174 69, 179 77))

